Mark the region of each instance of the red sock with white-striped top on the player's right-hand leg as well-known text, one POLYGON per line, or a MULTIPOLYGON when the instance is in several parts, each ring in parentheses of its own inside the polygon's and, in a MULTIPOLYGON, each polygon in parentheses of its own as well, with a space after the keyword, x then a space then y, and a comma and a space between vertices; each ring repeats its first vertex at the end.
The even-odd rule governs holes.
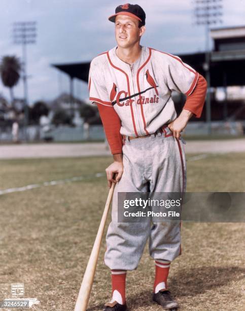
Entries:
POLYGON ((167 288, 167 277, 170 267, 170 261, 155 260, 156 274, 154 282, 154 293, 167 288))

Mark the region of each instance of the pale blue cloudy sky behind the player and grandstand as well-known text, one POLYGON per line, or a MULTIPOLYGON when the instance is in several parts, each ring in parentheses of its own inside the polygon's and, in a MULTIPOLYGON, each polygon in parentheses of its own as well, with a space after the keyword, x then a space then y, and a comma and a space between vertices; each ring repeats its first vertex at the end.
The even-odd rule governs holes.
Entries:
MULTIPOLYGON (((139 0, 146 12, 147 31, 142 45, 172 54, 203 51, 204 26, 194 24, 192 0, 139 0)), ((12 43, 12 23, 37 21, 37 43, 27 48, 29 103, 52 100, 69 90, 68 77, 50 64, 91 60, 116 45, 114 24, 108 16, 119 1, 100 0, 1 0, 0 57, 22 56, 21 46, 12 43)), ((223 0, 222 26, 244 25, 245 0, 223 0)), ((14 88, 22 97, 22 81, 14 88)), ((0 93, 9 90, 0 82, 0 93)), ((75 80, 75 96, 87 99, 87 84, 75 80)))

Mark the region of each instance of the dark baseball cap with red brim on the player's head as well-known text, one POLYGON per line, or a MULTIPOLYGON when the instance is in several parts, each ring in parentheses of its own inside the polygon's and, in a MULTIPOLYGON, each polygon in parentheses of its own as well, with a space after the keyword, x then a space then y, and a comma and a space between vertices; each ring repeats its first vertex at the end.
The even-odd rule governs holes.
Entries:
POLYGON ((115 14, 111 15, 108 19, 115 23, 117 15, 127 15, 141 21, 143 25, 146 24, 146 13, 139 5, 131 5, 129 3, 116 7, 115 14))

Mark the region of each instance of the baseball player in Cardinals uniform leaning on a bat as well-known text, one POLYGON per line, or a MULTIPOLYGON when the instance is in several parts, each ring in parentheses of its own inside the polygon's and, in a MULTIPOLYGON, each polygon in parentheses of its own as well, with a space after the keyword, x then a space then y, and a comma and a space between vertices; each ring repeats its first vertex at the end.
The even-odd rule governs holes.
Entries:
POLYGON ((167 276, 181 254, 180 223, 118 223, 118 193, 185 191, 181 132, 192 115, 201 115, 206 81, 178 56, 140 45, 146 30, 140 6, 120 5, 109 20, 115 23, 117 46, 95 57, 89 72, 90 101, 98 107, 114 158, 106 169, 108 185, 116 183, 104 255, 112 299, 104 310, 126 310, 126 271, 137 268, 148 238, 156 271, 153 300, 177 309, 167 276), (178 117, 172 90, 187 97, 178 117))

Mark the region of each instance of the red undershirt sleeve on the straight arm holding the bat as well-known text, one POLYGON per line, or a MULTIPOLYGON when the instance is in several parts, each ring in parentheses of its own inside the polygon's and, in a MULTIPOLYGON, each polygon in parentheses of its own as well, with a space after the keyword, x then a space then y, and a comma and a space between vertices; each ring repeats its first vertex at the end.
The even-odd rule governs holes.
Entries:
POLYGON ((112 106, 98 104, 99 115, 112 154, 122 153, 121 120, 112 106))

